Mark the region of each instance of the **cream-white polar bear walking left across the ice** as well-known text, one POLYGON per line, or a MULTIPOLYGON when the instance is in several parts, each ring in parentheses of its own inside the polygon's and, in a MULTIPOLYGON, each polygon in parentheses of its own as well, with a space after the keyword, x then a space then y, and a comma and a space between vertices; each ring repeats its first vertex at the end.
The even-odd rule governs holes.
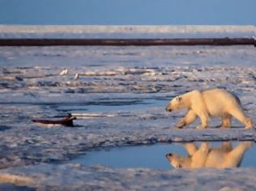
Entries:
POLYGON ((208 125, 209 117, 220 117, 221 128, 228 128, 231 125, 232 117, 245 124, 245 129, 253 127, 253 121, 245 116, 241 108, 239 98, 224 89, 211 89, 207 91, 189 91, 181 96, 176 96, 167 105, 167 112, 187 108, 188 112, 176 125, 182 129, 184 125, 189 125, 199 117, 201 125, 197 129, 205 129, 208 125))

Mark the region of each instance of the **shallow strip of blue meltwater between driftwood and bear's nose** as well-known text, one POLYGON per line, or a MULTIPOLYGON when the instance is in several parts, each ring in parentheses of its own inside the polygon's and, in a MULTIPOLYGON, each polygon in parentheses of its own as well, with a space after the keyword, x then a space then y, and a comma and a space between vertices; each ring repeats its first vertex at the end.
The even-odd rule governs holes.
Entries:
MULTIPOLYGON (((77 102, 6 102, 0 103, 2 107, 11 108, 16 107, 22 109, 24 112, 28 112, 28 107, 35 111, 37 109, 38 113, 52 113, 51 116, 55 116, 59 113, 59 116, 65 116, 67 113, 76 113, 79 115, 83 114, 95 114, 95 113, 115 113, 115 112, 140 112, 144 111, 146 108, 161 107, 165 108, 168 100, 161 99, 127 99, 127 100, 99 100, 99 101, 77 101, 77 102)), ((6 109, 9 111, 8 109, 6 109)), ((164 111, 164 109, 163 109, 164 111)), ((23 113, 24 113, 23 112, 23 113)), ((57 116, 57 117, 59 117, 57 116)))

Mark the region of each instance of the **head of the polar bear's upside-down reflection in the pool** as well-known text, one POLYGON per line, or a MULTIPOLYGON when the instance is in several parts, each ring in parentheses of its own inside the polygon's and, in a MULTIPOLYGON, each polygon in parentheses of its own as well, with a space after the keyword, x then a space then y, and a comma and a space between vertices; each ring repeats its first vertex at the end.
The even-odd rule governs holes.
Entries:
POLYGON ((169 153, 166 155, 166 158, 173 168, 190 168, 190 156, 181 156, 169 153))

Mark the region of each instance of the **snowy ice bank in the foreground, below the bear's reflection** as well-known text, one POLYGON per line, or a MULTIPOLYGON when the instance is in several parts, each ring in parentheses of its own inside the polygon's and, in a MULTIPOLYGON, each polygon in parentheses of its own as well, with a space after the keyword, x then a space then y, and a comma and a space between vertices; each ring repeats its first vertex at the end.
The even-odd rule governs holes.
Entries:
POLYGON ((77 164, 41 163, 0 172, 0 180, 10 174, 19 177, 16 177, 15 188, 25 186, 38 190, 254 190, 256 180, 255 169, 249 168, 159 171, 149 168, 85 168, 77 164))

